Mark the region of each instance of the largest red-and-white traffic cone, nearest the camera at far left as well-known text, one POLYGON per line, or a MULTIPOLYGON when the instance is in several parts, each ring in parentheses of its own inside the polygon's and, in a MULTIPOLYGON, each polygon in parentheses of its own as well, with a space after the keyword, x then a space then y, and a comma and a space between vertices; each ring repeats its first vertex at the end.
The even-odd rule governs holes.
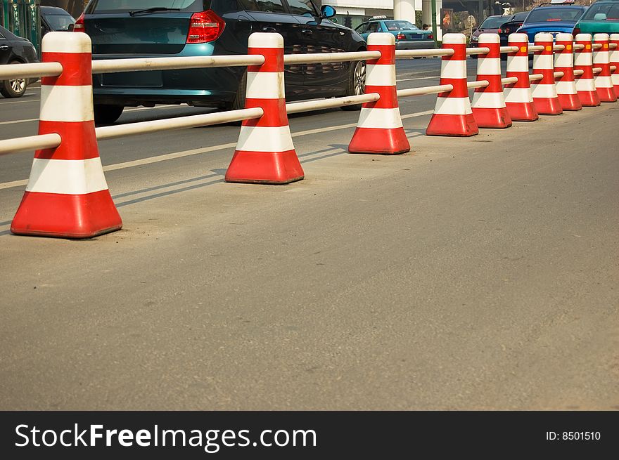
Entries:
POLYGON ((30 180, 11 232, 90 238, 122 228, 103 175, 94 129, 91 41, 87 34, 50 32, 42 61, 60 63, 41 80, 39 134, 58 133, 56 148, 34 153, 30 180))

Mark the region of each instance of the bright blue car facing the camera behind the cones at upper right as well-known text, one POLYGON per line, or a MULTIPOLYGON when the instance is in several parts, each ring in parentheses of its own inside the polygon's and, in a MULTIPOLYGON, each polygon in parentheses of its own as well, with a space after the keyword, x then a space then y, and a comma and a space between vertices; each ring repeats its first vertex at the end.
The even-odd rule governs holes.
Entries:
POLYGON ((533 8, 516 31, 527 34, 529 42, 535 41, 535 34, 548 32, 556 37, 556 34, 571 34, 576 22, 587 10, 587 6, 573 4, 545 4, 533 8))

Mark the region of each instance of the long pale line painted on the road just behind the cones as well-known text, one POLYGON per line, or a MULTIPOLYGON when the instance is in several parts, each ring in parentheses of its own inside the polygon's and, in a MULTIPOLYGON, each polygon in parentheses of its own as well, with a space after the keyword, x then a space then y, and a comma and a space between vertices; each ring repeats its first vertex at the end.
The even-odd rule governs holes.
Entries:
MULTIPOLYGON (((402 119, 423 117, 423 115, 428 115, 432 113, 433 113, 433 110, 426 110, 424 112, 416 112, 416 113, 411 113, 407 115, 402 115, 402 119)), ((299 131, 298 133, 293 133, 292 136, 293 138, 298 138, 300 136, 308 136, 311 134, 326 133, 328 131, 337 131, 338 129, 355 128, 356 126, 357 126, 357 123, 340 124, 338 126, 328 126, 326 128, 317 128, 317 129, 308 129, 307 131, 299 131)), ((409 137, 414 137, 414 136, 409 136, 409 137)), ((110 164, 108 166, 103 166, 103 171, 116 171, 117 169, 126 169, 126 168, 132 168, 134 166, 143 166, 146 164, 165 162, 170 159, 189 157, 191 155, 198 155, 200 153, 206 153, 206 152, 215 152, 217 150, 225 150, 225 149, 230 149, 234 147, 236 147, 236 142, 221 144, 221 145, 212 145, 211 147, 204 147, 204 148, 199 148, 199 149, 184 150, 182 152, 167 153, 165 155, 158 155, 157 157, 136 159, 132 162, 110 164)), ((13 182, 0 183, 0 190, 4 190, 5 188, 20 187, 22 185, 27 185, 27 183, 28 183, 27 179, 26 180, 13 180, 13 182)))

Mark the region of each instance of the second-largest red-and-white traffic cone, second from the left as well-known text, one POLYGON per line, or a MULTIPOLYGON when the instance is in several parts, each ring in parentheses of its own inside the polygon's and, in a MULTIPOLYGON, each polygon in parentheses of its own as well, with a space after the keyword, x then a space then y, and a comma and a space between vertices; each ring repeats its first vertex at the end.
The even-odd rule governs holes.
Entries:
POLYGON ((245 108, 261 107, 264 114, 241 124, 225 180, 260 184, 301 180, 304 173, 286 114, 283 38, 276 33, 253 33, 249 37, 248 54, 264 55, 264 64, 247 67, 245 108))

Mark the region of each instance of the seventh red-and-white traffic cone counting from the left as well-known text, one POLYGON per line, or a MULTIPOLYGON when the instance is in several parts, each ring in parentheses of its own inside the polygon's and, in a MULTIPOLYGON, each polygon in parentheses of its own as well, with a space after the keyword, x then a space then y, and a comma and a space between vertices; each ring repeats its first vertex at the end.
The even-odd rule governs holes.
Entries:
POLYGON ((535 51, 533 54, 533 73, 544 76, 531 85, 535 108, 540 115, 559 115, 563 110, 554 86, 552 34, 546 32, 535 34, 535 44, 544 46, 542 51, 535 51))

